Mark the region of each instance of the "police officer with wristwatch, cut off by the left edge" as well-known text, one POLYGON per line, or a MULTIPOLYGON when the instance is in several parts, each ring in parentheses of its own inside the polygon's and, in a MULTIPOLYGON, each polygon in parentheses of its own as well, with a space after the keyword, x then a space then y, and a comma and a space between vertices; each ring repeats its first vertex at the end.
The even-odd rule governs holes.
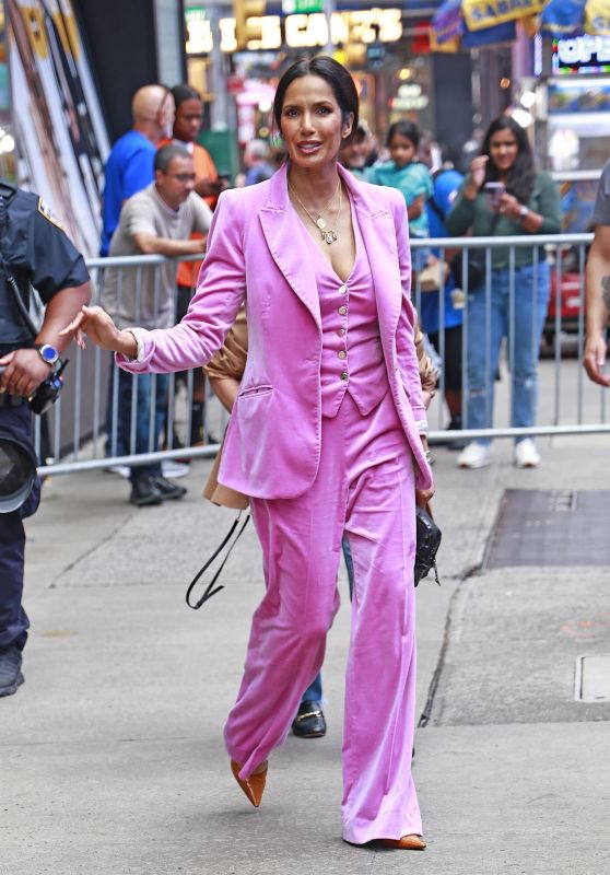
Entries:
POLYGON ((36 511, 40 487, 27 474, 26 459, 36 459, 28 398, 61 366, 71 338, 60 330, 90 299, 83 258, 50 209, 37 195, 0 179, 0 697, 23 682, 30 626, 21 604, 23 520, 36 511), (31 285, 46 304, 37 332, 26 318, 31 285), (15 483, 20 464, 25 482, 15 483))

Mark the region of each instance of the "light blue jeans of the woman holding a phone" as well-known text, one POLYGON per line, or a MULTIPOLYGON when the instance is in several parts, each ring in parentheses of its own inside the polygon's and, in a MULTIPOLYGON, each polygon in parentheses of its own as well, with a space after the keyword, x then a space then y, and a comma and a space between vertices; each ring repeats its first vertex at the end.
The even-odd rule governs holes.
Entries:
MULTIPOLYGON (((492 270, 491 295, 477 285, 468 295, 468 383, 466 428, 493 424, 493 390, 503 338, 508 341, 512 373, 511 424, 533 425, 538 399, 538 359, 549 305, 550 271, 546 261, 516 268, 514 305, 508 270, 492 270)), ((523 440, 523 439, 521 439, 523 440)), ((489 444, 491 439, 479 439, 489 444)))

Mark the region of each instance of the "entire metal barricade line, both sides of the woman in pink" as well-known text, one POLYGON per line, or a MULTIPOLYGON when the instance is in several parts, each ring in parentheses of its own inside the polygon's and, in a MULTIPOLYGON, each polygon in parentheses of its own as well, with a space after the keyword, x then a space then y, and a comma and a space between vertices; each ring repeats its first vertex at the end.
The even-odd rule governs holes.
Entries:
MULTIPOLYGON (((535 245, 535 260, 538 258, 538 248, 543 247, 547 258, 551 262, 551 275, 554 276, 552 284, 551 316, 547 317, 544 334, 552 340, 547 347, 546 357, 539 362, 539 405, 537 424, 529 429, 514 429, 507 410, 512 404, 512 381, 504 378, 502 392, 495 405, 493 427, 490 429, 468 429, 451 431, 451 438, 513 438, 519 434, 528 435, 563 435, 584 434, 610 431, 606 422, 606 393, 602 388, 594 386, 586 378, 580 361, 584 349, 584 295, 585 295, 585 260, 586 249, 593 240, 590 234, 560 234, 550 236, 524 235, 520 237, 446 237, 443 240, 412 241, 412 247, 430 248, 439 253, 441 259, 445 255, 458 249, 464 249, 462 262, 462 404, 466 409, 468 397, 468 359, 467 350, 470 342, 484 342, 489 355, 490 346, 490 318, 488 316, 484 337, 473 337, 470 319, 469 303, 471 290, 468 288, 468 253, 473 248, 485 252, 485 280, 484 293, 488 308, 491 301, 493 282, 492 252, 498 248, 508 250, 509 273, 509 312, 514 322, 515 307, 519 306, 520 290, 515 289, 515 257, 521 247, 532 248, 535 245), (571 262, 570 265, 567 262, 571 262), (566 268, 570 267, 570 270, 566 268), (562 315, 563 314, 563 315, 562 315), (565 335, 564 329, 571 331, 565 335), (571 341, 572 358, 564 347, 571 341), (502 397, 502 396, 506 397, 502 397)), ((184 260, 198 260, 191 257, 184 260)), ((116 282, 117 308, 120 312, 125 295, 134 296, 137 313, 146 315, 153 320, 163 310, 163 283, 167 284, 168 278, 175 276, 177 261, 162 256, 138 256, 119 258, 94 258, 87 261, 96 288, 96 300, 104 283, 109 281, 114 271, 113 281, 116 282), (143 290, 149 294, 143 294, 143 290), (152 290, 152 296, 150 294, 152 290), (152 298, 152 303, 151 303, 152 298)), ((536 293, 536 287, 533 289, 536 293)), ((439 332, 437 353, 443 365, 445 359, 445 285, 437 291, 422 291, 419 276, 415 277, 412 296, 418 311, 424 295, 438 296, 439 332)), ((174 295, 174 302, 176 295, 174 295)), ((174 314, 173 314, 174 315, 174 314)), ((138 324, 138 318, 136 319, 138 324)), ((423 326, 424 330, 426 326, 423 326)), ((514 337, 514 331, 509 332, 514 337)), ((538 338, 532 337, 531 342, 538 345, 538 338)), ((538 352, 538 351, 537 351, 538 352)), ((169 377, 166 396, 157 398, 156 383, 159 377, 148 377, 150 382, 149 399, 150 410, 148 418, 148 444, 144 452, 137 452, 136 435, 138 427, 137 405, 131 405, 131 417, 128 423, 120 422, 118 417, 118 392, 120 388, 119 369, 114 365, 112 357, 103 353, 93 343, 87 343, 86 349, 79 350, 74 345, 68 353, 71 360, 66 372, 66 388, 60 401, 50 415, 45 418, 35 418, 35 441, 39 457, 45 462, 40 468, 42 474, 72 474, 75 471, 108 468, 118 465, 139 465, 153 459, 180 459, 195 457, 209 457, 218 452, 218 441, 226 424, 226 415, 220 404, 210 395, 207 386, 204 433, 208 442, 203 445, 191 446, 190 410, 193 394, 192 371, 186 375, 169 377), (155 417, 162 420, 163 448, 154 447, 155 417), (210 440, 210 432, 213 438, 210 440), (178 433, 180 444, 176 442, 178 433)), ((512 360, 512 339, 503 357, 503 371, 507 373, 512 360)), ((489 359, 488 359, 489 361, 489 359)), ((131 399, 134 401, 138 381, 131 381, 131 399)), ((431 442, 435 443, 447 436, 445 428, 448 415, 443 404, 446 373, 441 366, 437 397, 435 398, 429 419, 431 422, 431 442)), ((125 390, 125 389, 124 389, 125 390)))

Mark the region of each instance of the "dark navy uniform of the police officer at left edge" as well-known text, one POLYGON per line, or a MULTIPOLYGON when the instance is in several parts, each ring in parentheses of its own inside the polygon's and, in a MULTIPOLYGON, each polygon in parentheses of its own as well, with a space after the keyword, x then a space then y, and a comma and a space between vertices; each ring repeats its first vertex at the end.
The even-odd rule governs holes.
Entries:
MULTIPOLYGON (((42 198, 0 180, 7 205, 7 222, 0 238, 0 355, 32 347, 34 338, 19 314, 5 281, 5 270, 16 280, 23 301, 30 302, 33 285, 47 303, 63 289, 89 282, 83 257, 42 198)), ((0 394, 0 436, 22 445, 35 457, 32 412, 25 398, 0 394)), ((23 520, 37 509, 40 486, 36 482, 27 500, 12 513, 0 513, 0 653, 23 650, 28 619, 21 605, 25 530, 23 520)))

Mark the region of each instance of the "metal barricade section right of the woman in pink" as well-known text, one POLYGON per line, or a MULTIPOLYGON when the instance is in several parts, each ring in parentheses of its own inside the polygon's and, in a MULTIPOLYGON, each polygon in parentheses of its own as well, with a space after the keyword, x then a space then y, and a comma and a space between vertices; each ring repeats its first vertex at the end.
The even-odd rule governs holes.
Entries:
MULTIPOLYGON (((506 249, 508 254, 508 276, 509 276, 509 328, 507 348, 504 350, 503 368, 507 371, 505 380, 508 386, 507 409, 500 406, 493 411, 493 425, 485 429, 466 428, 460 431, 451 431, 450 438, 472 440, 477 438, 518 438, 537 435, 564 435, 564 434, 586 434, 600 433, 610 430, 606 422, 606 393, 602 388, 591 384, 582 366, 584 342, 585 342, 585 262, 587 248, 593 241, 593 234, 553 234, 553 235, 523 235, 511 237, 460 237, 460 238, 435 238, 412 241, 412 248, 433 246, 438 252, 439 258, 444 260, 446 256, 456 249, 464 250, 461 288, 464 291, 462 301, 462 410, 467 410, 467 399, 469 396, 469 373, 468 373, 468 348, 469 343, 485 345, 485 362, 490 363, 491 343, 491 289, 494 282, 494 271, 492 269, 492 253, 497 249, 506 249), (511 362, 514 359, 514 338, 515 338, 515 312, 519 303, 523 303, 523 290, 515 288, 516 273, 516 253, 519 249, 533 249, 533 265, 539 264, 540 252, 550 262, 551 293, 549 306, 544 319, 543 337, 551 339, 551 346, 547 345, 543 349, 546 358, 539 362, 538 368, 538 413, 537 424, 531 428, 512 428, 511 409, 513 404, 513 381, 511 378, 511 362), (472 290, 468 284, 468 254, 472 249, 484 249, 485 271, 482 287, 485 295, 486 324, 483 337, 473 336, 470 325, 470 306, 472 303, 472 290), (566 269, 571 262, 570 269, 566 269), (566 335, 566 329, 570 331, 566 335), (571 350, 566 350, 570 346, 571 350), (552 361, 549 361, 552 355, 552 361), (551 396, 551 397, 550 397, 551 396)), ((439 342, 438 354, 442 365, 445 360, 445 288, 437 292, 422 291, 419 277, 413 282, 413 300, 418 311, 422 307, 422 301, 426 294, 438 296, 439 310, 439 342)), ((536 282, 532 294, 538 292, 536 282)), ((481 284, 478 289, 481 293, 481 284)), ((424 330, 426 326, 423 326, 424 330)), ((538 332, 532 331, 530 339, 536 360, 539 358, 540 350, 538 332)), ((445 388, 445 373, 441 368, 438 382, 438 401, 435 400, 431 421, 431 443, 447 440, 444 431, 448 417, 442 404, 442 396, 445 388)), ((506 393, 504 393, 506 394, 506 393)), ((489 396, 486 397, 490 404, 489 396)), ((488 407, 488 416, 492 410, 488 407)))

